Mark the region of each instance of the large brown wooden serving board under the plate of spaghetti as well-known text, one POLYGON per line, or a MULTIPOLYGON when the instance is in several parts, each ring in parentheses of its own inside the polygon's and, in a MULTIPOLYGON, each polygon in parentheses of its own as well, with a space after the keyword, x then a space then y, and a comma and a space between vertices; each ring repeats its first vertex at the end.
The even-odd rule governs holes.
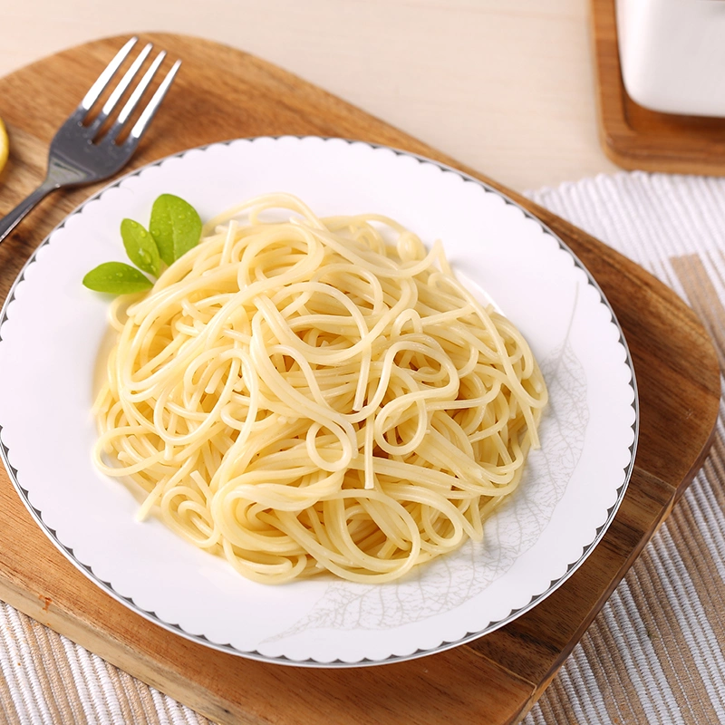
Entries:
MULTIPOLYGON (((148 39, 184 64, 131 168, 212 141, 315 134, 388 144, 485 179, 246 53, 175 35, 148 39)), ((0 116, 11 137, 0 214, 40 182, 53 132, 123 41, 82 45, 0 80, 0 116)), ((0 247, 3 297, 34 247, 95 190, 56 194, 16 228, 0 247)), ((43 536, 4 471, 0 597, 218 722, 520 719, 699 468, 718 412, 720 377, 710 339, 679 297, 581 230, 507 193, 562 237, 604 289, 632 351, 641 402, 639 449, 622 507, 594 553, 543 604, 478 641, 411 662, 337 670, 253 662, 190 643, 97 589, 43 536)))

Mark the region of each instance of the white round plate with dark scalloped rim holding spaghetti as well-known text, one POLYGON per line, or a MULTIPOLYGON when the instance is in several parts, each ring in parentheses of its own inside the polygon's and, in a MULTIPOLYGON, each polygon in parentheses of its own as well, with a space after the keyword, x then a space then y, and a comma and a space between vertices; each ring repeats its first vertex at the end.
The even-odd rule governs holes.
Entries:
POLYGON ((584 561, 623 498, 638 428, 622 330, 571 250, 522 208, 430 160, 340 139, 261 138, 189 150, 113 183, 34 253, 0 317, 5 466, 37 523, 130 609, 199 643, 269 662, 349 666, 466 642, 540 602, 584 561), (121 218, 148 221, 169 192, 211 218, 286 191, 319 215, 382 213, 442 239, 464 282, 526 335, 551 395, 543 448, 482 545, 390 585, 249 582, 158 521, 92 465, 91 416, 108 301, 81 285, 125 258, 121 218))

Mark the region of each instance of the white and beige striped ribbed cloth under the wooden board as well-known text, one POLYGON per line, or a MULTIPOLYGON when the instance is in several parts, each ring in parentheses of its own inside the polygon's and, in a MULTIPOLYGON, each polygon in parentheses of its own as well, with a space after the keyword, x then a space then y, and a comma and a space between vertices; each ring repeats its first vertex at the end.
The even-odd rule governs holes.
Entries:
MULTIPOLYGON (((725 179, 621 173, 529 196, 671 285, 725 369, 725 179)), ((710 458, 526 725, 725 722, 722 413, 710 458)), ((0 672, 0 723, 208 723, 6 604, 0 672)))

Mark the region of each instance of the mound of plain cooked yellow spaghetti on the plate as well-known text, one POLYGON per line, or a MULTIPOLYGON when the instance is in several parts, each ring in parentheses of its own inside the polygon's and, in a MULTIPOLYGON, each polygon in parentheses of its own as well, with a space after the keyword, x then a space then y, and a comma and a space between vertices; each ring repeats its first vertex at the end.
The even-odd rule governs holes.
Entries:
POLYGON ((389 582, 481 540, 546 385, 440 243, 286 195, 205 235, 112 307, 94 457, 147 492, 140 517, 266 583, 389 582))

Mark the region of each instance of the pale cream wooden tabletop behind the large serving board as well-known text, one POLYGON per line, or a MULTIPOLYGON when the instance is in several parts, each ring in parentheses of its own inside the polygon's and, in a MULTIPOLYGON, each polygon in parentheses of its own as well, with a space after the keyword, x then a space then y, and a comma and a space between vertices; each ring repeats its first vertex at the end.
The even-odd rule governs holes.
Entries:
POLYGON ((141 31, 254 53, 518 191, 615 170, 588 0, 0 0, 0 75, 141 31))

